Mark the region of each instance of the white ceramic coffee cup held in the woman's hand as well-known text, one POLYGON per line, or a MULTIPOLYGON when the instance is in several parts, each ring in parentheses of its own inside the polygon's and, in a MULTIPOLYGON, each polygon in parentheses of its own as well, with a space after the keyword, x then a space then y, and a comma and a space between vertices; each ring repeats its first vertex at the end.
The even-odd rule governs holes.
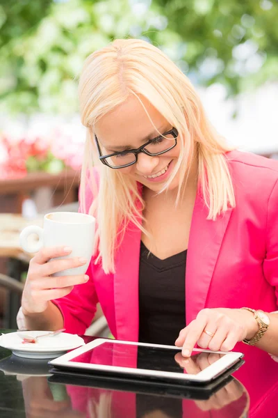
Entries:
POLYGON ((72 252, 58 258, 85 257, 88 262, 80 267, 70 268, 53 274, 54 276, 67 276, 85 274, 95 241, 95 218, 77 212, 52 212, 44 216, 44 226, 27 226, 19 237, 20 245, 24 251, 35 253, 42 247, 70 247, 72 252), (37 242, 28 242, 32 233, 38 235, 37 242))

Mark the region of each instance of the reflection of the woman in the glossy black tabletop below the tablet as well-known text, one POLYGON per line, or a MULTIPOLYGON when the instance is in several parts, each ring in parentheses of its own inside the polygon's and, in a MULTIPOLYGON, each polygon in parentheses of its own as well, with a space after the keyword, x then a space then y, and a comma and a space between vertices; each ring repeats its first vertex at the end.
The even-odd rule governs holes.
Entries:
POLYGON ((31 417, 129 417, 129 418, 203 418, 245 417, 249 397, 238 380, 204 401, 176 396, 158 396, 101 387, 59 385, 44 377, 31 377, 22 382, 26 412, 31 417), (50 386, 50 387, 49 387, 50 386), (60 391, 59 388, 60 387, 60 391), (60 396, 55 396, 55 394, 60 396))

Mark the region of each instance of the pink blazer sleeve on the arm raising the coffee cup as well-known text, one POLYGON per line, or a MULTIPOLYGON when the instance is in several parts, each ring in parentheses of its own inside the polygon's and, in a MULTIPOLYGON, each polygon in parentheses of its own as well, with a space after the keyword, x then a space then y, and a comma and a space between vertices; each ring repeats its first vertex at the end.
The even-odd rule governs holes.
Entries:
MULTIPOLYGON (((94 169, 91 174, 93 185, 98 189, 99 185, 99 173, 97 169, 94 169)), ((85 189, 86 194, 86 208, 85 212, 89 212, 90 205, 94 199, 92 189, 96 188, 88 185, 85 189)), ((79 208, 79 212, 80 212, 79 208)), ((94 265, 97 254, 92 256, 88 270, 86 274, 89 276, 89 280, 85 284, 79 284, 74 286, 72 292, 60 299, 52 300, 54 304, 60 309, 64 318, 64 327, 67 332, 71 334, 84 334, 85 330, 92 323, 92 319, 97 311, 98 297, 95 291, 94 274, 96 268, 101 266, 94 265)))

